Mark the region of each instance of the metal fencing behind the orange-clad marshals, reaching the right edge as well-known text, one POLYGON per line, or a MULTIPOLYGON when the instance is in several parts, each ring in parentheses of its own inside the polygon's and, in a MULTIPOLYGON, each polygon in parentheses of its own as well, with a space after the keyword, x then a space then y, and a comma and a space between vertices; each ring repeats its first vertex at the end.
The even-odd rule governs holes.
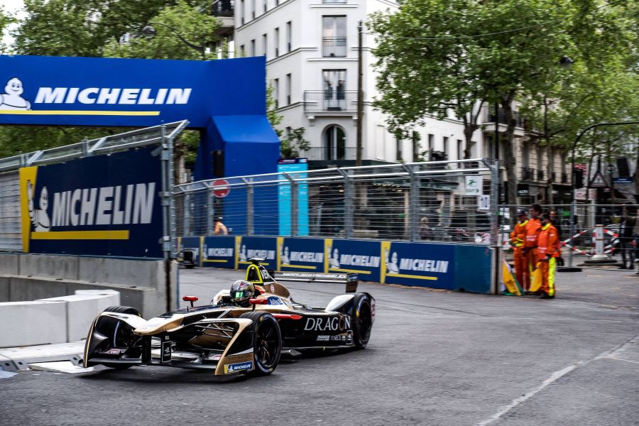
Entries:
MULTIPOLYGON (((639 259, 639 204, 557 204, 542 205, 542 210, 550 214, 552 224, 557 228, 562 253, 569 266, 573 257, 582 259, 596 255, 596 227, 603 226, 603 255, 612 261, 618 260, 622 267, 633 268, 639 259)), ((529 213, 530 205, 502 205, 503 219, 500 234, 503 249, 508 251, 510 231, 517 218, 513 215, 519 209, 529 213)))

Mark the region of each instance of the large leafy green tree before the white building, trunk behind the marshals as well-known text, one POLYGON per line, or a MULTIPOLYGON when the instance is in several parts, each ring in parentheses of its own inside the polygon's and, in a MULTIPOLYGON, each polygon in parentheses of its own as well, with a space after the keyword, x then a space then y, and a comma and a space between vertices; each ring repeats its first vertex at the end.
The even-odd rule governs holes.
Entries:
MULTIPOLYGON (((377 13, 371 28, 379 43, 378 106, 391 114, 391 126, 407 126, 429 112, 441 116, 446 107, 462 117, 481 101, 500 104, 507 124, 502 164, 513 202, 515 101, 543 93, 551 76, 560 81, 563 55, 590 61, 586 47, 603 53, 606 43, 619 43, 614 13, 598 6, 589 0, 406 0, 398 13, 377 13)), ((464 122, 468 131, 471 122, 464 122)))

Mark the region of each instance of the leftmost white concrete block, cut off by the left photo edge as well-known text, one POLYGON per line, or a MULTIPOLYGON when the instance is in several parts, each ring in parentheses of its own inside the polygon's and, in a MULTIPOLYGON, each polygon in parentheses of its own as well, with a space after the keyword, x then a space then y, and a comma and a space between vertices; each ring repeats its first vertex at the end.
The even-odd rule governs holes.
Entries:
POLYGON ((0 347, 67 342, 66 302, 1 302, 0 324, 0 347))

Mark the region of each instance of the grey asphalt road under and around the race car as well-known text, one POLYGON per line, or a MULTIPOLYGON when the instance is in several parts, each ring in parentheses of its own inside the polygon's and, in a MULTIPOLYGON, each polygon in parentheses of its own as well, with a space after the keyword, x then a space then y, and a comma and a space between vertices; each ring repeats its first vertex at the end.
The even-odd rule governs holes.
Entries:
MULTIPOLYGON (((180 271, 207 302, 237 271, 180 271)), ((0 425, 639 425, 639 278, 558 275, 555 300, 361 284, 368 349, 307 356, 263 378, 174 368, 0 381, 0 425)), ((324 305, 342 285, 288 283, 324 305)))

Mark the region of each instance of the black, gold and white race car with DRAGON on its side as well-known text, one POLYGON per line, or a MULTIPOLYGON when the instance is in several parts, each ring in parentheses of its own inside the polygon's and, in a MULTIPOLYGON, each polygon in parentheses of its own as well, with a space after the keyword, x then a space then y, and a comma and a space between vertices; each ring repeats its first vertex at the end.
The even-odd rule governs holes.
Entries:
POLYGON ((312 349, 364 349, 375 319, 368 293, 334 297, 325 308, 297 303, 253 258, 246 280, 222 290, 210 305, 190 307, 143 320, 138 310, 109 307, 89 329, 84 368, 104 365, 203 368, 215 376, 266 376, 280 356, 312 349))

